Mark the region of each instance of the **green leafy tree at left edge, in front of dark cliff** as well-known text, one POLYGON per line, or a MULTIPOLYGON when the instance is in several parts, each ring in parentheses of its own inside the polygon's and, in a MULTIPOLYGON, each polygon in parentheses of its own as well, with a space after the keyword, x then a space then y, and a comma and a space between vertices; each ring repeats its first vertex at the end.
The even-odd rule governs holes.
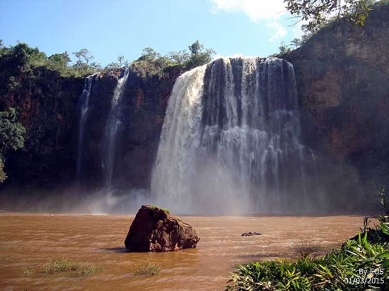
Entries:
POLYGON ((26 129, 18 122, 14 108, 0 111, 0 183, 7 178, 4 172, 5 155, 9 150, 24 146, 23 134, 26 129))

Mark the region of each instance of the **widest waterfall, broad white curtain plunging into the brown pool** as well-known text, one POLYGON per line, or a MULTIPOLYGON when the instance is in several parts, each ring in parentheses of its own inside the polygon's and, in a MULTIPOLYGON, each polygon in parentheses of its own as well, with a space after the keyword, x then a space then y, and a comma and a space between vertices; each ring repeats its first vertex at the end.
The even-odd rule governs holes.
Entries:
POLYGON ((293 65, 218 59, 180 76, 152 175, 157 203, 191 213, 285 212, 309 204, 293 65))

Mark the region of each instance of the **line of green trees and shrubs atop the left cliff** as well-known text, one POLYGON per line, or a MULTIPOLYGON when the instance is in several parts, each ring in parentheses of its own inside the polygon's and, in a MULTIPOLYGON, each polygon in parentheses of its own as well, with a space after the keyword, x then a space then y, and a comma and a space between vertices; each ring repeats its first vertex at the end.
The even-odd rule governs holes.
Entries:
POLYGON ((23 66, 45 67, 60 72, 62 77, 85 77, 96 72, 128 66, 138 70, 141 75, 159 75, 161 77, 167 67, 177 66, 182 70, 189 70, 210 62, 215 53, 213 49, 204 48, 196 40, 189 46, 189 50, 171 51, 162 56, 154 49, 147 47, 142 50, 141 56, 132 63, 125 60, 123 55, 119 55, 116 62, 103 67, 100 63, 93 62, 94 56, 86 48, 72 52, 76 58, 75 63, 72 63, 68 51, 47 56, 43 51, 31 48, 26 43, 18 42, 15 46, 5 47, 0 39, 0 66, 2 69, 17 70, 18 67, 23 66))

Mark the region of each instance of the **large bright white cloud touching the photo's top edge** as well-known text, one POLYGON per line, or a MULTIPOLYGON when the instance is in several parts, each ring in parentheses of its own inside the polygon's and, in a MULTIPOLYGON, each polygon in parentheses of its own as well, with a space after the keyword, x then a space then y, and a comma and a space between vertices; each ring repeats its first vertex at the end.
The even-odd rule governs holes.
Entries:
POLYGON ((251 21, 278 19, 286 13, 283 0, 211 0, 214 3, 212 12, 240 12, 246 14, 251 21))

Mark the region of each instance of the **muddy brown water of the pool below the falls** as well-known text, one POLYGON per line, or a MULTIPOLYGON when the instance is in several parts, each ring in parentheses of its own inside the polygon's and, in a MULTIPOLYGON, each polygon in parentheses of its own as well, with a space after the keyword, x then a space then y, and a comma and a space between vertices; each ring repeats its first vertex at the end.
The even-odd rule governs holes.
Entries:
POLYGON ((124 238, 134 215, 0 213, 0 290, 173 291, 224 290, 229 272, 253 260, 297 258, 301 248, 324 253, 354 236, 362 216, 181 218, 198 230, 196 249, 171 253, 128 253, 124 238), (262 236, 242 237, 259 231, 262 236), (86 278, 46 275, 49 259, 104 265, 86 278), (134 276, 145 257, 162 268, 134 276), (26 275, 25 269, 35 268, 26 275))

